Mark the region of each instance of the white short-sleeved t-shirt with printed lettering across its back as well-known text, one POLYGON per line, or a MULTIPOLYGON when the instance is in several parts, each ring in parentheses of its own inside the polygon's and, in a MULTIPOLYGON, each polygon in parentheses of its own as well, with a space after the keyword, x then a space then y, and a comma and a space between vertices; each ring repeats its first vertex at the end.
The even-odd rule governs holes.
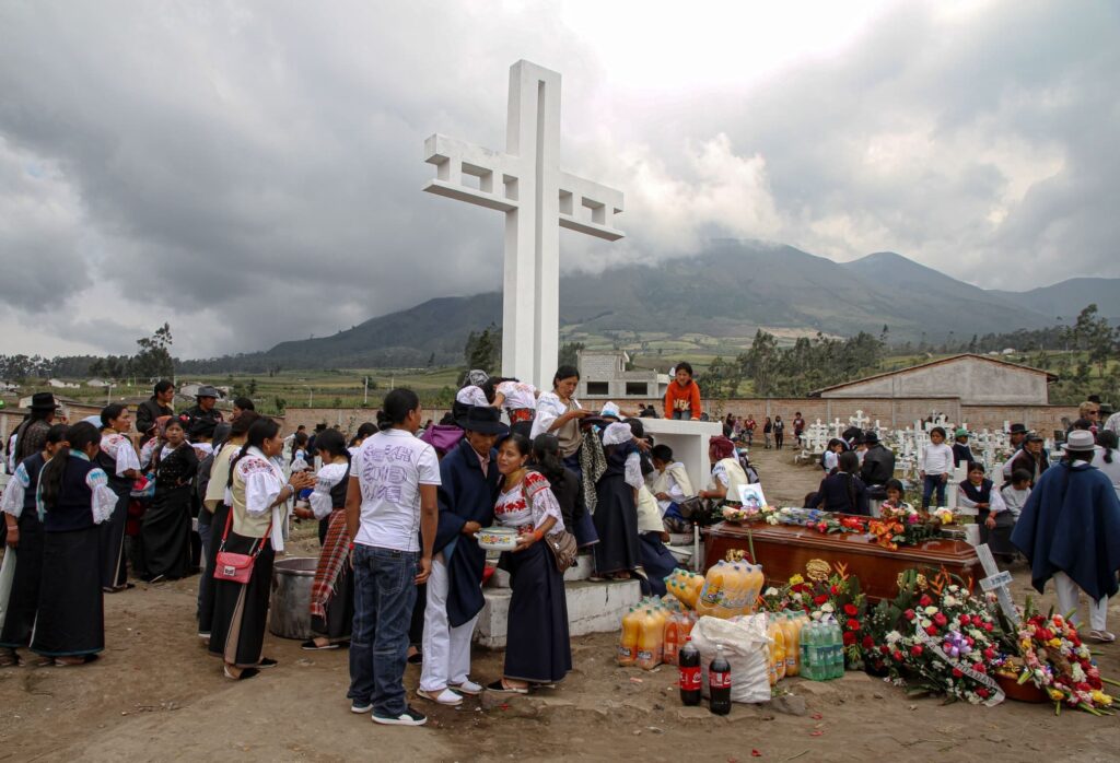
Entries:
POLYGON ((362 487, 362 519, 354 543, 420 550, 420 486, 439 484, 436 450, 404 430, 366 437, 351 464, 362 487))

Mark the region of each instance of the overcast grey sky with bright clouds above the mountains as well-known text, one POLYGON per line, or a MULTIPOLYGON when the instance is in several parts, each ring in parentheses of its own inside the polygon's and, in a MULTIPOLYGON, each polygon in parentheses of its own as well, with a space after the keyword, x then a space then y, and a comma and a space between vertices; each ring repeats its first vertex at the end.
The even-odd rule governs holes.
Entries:
POLYGON ((566 169, 628 237, 986 288, 1120 275, 1120 6, 0 0, 0 352, 183 357, 501 279, 501 215, 420 192, 423 139, 505 145, 510 65, 563 75, 566 169), (780 7, 780 8, 778 8, 780 7))

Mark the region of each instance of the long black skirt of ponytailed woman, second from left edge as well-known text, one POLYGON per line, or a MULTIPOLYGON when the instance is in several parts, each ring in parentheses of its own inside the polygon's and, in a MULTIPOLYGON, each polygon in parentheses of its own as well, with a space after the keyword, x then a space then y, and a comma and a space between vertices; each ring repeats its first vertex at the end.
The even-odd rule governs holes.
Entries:
POLYGON ((43 578, 31 651, 80 657, 105 648, 100 529, 43 534, 43 578))

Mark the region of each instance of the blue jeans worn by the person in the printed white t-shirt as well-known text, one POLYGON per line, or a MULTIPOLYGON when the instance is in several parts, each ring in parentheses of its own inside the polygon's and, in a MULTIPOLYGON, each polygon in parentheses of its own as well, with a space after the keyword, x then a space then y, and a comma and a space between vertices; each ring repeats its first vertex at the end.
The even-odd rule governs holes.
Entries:
POLYGON ((374 715, 382 717, 396 717, 409 706, 402 679, 419 557, 416 552, 354 546, 354 629, 346 696, 357 704, 372 703, 374 715))

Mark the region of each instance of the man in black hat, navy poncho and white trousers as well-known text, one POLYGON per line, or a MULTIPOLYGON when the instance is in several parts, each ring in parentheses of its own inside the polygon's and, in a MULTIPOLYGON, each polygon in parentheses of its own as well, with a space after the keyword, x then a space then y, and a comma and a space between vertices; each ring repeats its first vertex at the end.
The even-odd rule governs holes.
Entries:
POLYGON ((417 694, 440 705, 458 705, 460 694, 476 695, 483 688, 469 677, 470 635, 485 603, 486 566, 486 552, 473 536, 494 521, 502 479, 494 444, 508 431, 500 416, 489 406, 467 408, 458 421, 463 440, 439 463, 439 528, 428 578, 423 670, 417 694))

